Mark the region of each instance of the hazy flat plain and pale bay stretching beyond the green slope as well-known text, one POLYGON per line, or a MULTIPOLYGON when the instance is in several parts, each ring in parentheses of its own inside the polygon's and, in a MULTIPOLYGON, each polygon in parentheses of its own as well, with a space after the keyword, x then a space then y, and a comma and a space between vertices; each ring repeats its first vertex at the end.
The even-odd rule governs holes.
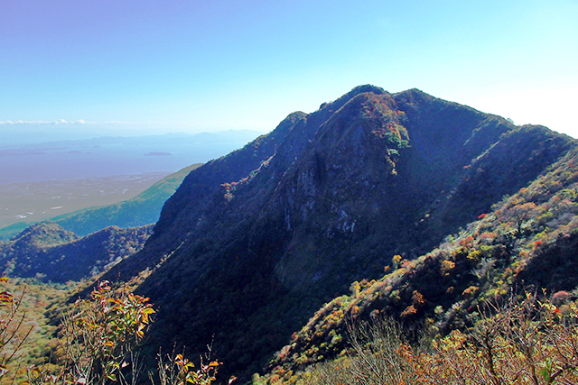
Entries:
POLYGON ((0 228, 135 197, 193 163, 219 158, 254 131, 0 145, 0 228))

